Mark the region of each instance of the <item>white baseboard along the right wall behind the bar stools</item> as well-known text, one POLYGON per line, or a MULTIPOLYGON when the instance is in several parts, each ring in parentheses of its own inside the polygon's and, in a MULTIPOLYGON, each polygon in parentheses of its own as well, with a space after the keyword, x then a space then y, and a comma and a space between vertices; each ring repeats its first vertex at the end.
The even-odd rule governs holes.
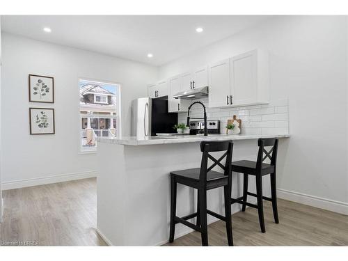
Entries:
POLYGON ((330 210, 332 212, 348 215, 348 203, 330 200, 327 198, 319 198, 317 196, 310 196, 303 193, 288 191, 285 189, 277 189, 277 191, 278 198, 283 198, 285 200, 294 201, 296 203, 310 205, 312 207, 318 207, 321 209, 330 210))

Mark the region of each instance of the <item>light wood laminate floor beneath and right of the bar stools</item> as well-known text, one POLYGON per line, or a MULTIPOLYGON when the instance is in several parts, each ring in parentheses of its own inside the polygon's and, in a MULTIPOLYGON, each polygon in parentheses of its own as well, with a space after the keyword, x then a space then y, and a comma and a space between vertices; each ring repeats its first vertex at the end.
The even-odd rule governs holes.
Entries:
MULTIPOLYGON (((348 246, 348 216, 278 199, 279 224, 274 223, 271 203, 264 200, 262 233, 258 210, 247 207, 232 215, 235 246, 348 246)), ((208 226, 209 246, 227 246, 225 222, 208 226)), ((199 232, 191 232, 167 246, 200 246, 199 232)))

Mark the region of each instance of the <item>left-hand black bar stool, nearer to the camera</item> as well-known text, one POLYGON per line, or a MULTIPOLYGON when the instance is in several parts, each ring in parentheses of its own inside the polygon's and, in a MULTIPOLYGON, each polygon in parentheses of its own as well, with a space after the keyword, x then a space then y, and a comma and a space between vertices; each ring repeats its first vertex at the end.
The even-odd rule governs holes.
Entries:
POLYGON ((171 229, 169 242, 174 241, 175 224, 182 223, 189 228, 197 230, 202 236, 202 245, 208 245, 207 233, 207 214, 215 216, 226 222, 226 232, 228 245, 233 246, 232 225, 231 225, 231 188, 232 188, 232 141, 202 141, 200 151, 203 152, 200 168, 191 168, 183 171, 171 172, 171 229), (226 151, 219 159, 215 159, 209 152, 226 151), (226 157, 226 164, 223 166, 221 161, 226 157), (214 161, 212 166, 207 167, 208 159, 214 161), (224 173, 212 171, 214 166, 223 168, 224 173), (176 194, 177 183, 193 187, 198 190, 197 212, 184 217, 176 216, 176 194), (207 209, 207 190, 223 187, 225 198, 225 216, 221 216, 207 209), (197 223, 194 225, 187 221, 197 216, 197 223))

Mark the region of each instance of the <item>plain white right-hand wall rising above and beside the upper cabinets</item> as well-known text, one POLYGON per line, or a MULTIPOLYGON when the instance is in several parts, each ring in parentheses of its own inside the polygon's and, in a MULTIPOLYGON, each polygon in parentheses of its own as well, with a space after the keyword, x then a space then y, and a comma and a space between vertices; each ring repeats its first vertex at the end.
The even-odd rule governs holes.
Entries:
POLYGON ((159 76, 255 48, 269 50, 271 100, 289 99, 291 138, 280 144, 280 194, 333 203, 348 214, 346 17, 274 17, 161 66, 159 76))

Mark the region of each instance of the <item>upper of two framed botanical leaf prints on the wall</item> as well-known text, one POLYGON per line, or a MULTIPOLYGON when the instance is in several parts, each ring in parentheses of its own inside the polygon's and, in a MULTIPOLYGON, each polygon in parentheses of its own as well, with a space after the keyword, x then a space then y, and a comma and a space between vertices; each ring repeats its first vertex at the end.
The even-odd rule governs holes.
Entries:
POLYGON ((29 102, 54 103, 54 78, 29 74, 29 102))

